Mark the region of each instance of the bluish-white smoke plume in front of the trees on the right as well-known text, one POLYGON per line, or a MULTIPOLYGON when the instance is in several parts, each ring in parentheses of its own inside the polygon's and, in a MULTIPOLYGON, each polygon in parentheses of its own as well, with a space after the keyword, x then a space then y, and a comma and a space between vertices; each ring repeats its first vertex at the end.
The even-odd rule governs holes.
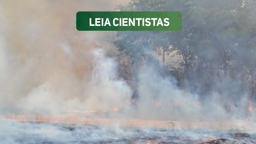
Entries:
MULTIPOLYGON (((160 65, 160 64, 159 64, 160 65)), ((182 90, 164 69, 145 65, 138 76, 138 113, 144 119, 181 121, 236 121, 248 115, 248 94, 240 95, 239 82, 224 80, 202 99, 198 94, 182 90), (163 72, 161 72, 161 70, 163 72), (233 108, 232 110, 227 110, 233 108)))

